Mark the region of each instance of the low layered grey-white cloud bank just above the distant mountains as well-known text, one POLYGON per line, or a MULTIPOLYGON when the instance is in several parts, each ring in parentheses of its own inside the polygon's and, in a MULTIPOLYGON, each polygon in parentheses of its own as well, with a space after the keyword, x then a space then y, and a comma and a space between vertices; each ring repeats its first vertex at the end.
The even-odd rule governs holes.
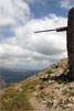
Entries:
POLYGON ((51 64, 49 58, 49 56, 22 48, 15 37, 4 38, 0 43, 1 66, 20 68, 38 68, 40 66, 39 68, 43 68, 51 64))

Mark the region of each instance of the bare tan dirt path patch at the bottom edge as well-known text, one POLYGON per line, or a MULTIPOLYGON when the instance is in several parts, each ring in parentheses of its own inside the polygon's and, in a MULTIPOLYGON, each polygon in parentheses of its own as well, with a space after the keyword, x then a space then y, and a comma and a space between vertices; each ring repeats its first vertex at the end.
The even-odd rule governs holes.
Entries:
POLYGON ((33 107, 34 111, 50 111, 49 108, 41 101, 36 100, 35 97, 30 99, 30 103, 33 107))

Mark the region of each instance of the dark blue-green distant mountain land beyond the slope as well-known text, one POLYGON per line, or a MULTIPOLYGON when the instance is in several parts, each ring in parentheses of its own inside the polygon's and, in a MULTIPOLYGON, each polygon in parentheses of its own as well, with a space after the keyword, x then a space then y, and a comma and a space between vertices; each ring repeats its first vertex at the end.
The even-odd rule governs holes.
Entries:
POLYGON ((9 68, 0 68, 0 78, 6 82, 7 86, 19 82, 32 75, 35 75, 38 70, 18 70, 9 68))

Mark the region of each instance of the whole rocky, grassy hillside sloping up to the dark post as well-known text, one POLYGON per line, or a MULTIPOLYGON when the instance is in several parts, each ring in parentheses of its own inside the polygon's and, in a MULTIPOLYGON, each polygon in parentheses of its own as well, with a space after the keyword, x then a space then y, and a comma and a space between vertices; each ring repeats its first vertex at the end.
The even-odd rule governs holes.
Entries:
POLYGON ((67 59, 22 80, 0 93, 0 111, 74 111, 74 82, 56 77, 67 59))

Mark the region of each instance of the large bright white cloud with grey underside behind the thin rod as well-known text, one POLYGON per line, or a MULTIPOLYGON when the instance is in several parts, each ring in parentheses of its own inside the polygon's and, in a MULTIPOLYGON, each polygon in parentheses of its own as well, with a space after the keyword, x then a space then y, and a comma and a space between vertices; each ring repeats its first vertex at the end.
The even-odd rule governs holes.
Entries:
POLYGON ((47 32, 34 34, 34 31, 55 29, 66 25, 66 19, 51 14, 41 20, 31 20, 24 26, 15 30, 15 36, 19 44, 32 52, 43 55, 60 55, 66 51, 66 42, 64 33, 47 32))

